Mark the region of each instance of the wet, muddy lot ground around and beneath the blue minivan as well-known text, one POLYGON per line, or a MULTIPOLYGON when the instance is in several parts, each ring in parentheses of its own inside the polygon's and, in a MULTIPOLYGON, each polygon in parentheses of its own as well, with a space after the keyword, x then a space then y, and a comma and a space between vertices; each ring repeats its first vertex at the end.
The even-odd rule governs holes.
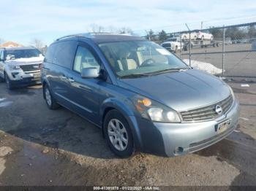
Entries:
POLYGON ((99 128, 67 109, 50 111, 41 86, 0 83, 0 185, 256 185, 256 84, 230 85, 241 118, 227 139, 182 157, 120 159, 99 128))

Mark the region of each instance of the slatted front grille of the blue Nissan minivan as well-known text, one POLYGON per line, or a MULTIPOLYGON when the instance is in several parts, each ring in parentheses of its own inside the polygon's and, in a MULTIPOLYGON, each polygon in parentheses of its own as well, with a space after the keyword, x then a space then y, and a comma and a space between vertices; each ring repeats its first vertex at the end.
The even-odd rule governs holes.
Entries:
POLYGON ((191 109, 186 112, 181 112, 183 121, 202 121, 202 120, 214 120, 219 117, 219 114, 215 112, 215 106, 219 105, 222 107, 222 114, 225 114, 233 104, 232 95, 225 98, 223 101, 219 101, 216 104, 210 106, 204 106, 197 109, 191 109))

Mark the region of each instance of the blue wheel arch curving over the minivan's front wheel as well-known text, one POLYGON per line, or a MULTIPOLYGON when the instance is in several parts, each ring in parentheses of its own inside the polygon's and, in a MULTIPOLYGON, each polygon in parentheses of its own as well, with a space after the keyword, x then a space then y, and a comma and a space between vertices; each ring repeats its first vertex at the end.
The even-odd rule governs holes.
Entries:
POLYGON ((135 141, 135 148, 143 148, 143 141, 141 139, 140 128, 138 127, 138 122, 135 117, 136 114, 133 112, 135 111, 135 106, 132 104, 132 101, 130 101, 127 98, 123 101, 121 101, 118 98, 108 98, 105 101, 103 101, 102 106, 99 109, 99 117, 100 119, 102 119, 100 124, 101 127, 103 127, 105 111, 109 108, 116 109, 118 110, 118 112, 121 112, 121 114, 123 114, 123 116, 129 124, 129 127, 132 130, 132 136, 135 141))

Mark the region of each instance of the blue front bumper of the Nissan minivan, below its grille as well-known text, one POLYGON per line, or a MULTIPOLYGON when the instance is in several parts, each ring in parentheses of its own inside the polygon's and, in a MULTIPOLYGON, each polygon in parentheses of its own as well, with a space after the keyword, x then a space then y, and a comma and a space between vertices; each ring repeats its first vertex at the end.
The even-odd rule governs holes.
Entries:
POLYGON ((196 152, 211 146, 235 130, 238 125, 239 104, 235 100, 230 111, 217 120, 206 122, 162 123, 139 120, 143 152, 173 157, 196 152), (217 133, 216 125, 230 119, 223 133, 217 133))

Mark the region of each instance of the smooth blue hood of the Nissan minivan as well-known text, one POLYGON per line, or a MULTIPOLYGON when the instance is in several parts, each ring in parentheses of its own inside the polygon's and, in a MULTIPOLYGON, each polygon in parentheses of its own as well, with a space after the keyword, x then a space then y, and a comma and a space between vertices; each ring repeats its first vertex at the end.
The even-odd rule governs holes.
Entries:
POLYGON ((214 104, 230 95, 230 89, 225 82, 196 69, 119 79, 118 85, 179 112, 214 104))

